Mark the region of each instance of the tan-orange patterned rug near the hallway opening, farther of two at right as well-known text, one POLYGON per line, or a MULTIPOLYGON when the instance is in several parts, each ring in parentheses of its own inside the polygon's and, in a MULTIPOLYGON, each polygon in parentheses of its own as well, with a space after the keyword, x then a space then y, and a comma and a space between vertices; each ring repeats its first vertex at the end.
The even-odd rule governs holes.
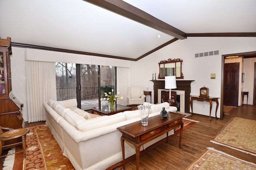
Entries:
POLYGON ((256 120, 233 117, 212 143, 256 156, 256 120))

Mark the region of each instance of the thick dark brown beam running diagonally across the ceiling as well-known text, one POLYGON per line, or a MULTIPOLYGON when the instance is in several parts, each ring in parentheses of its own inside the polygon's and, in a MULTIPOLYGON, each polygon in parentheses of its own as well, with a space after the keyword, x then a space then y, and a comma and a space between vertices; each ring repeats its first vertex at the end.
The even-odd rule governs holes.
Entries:
POLYGON ((176 37, 178 39, 186 39, 186 33, 155 18, 154 16, 124 2, 122 0, 84 0, 136 22, 142 23, 148 27, 176 37))

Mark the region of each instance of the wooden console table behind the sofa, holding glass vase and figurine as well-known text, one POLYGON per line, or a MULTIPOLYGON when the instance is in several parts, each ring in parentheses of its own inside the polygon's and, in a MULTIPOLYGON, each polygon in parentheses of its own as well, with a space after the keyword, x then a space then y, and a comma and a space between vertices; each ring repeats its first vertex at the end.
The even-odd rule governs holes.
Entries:
POLYGON ((168 132, 178 126, 180 126, 180 143, 183 131, 182 117, 184 114, 168 112, 168 117, 161 119, 161 115, 156 115, 148 119, 148 125, 142 126, 141 121, 136 121, 128 125, 118 127, 118 131, 122 133, 121 146, 123 156, 123 169, 125 165, 124 157, 124 140, 132 143, 136 150, 136 169, 139 169, 140 165, 140 147, 149 141, 166 133, 166 141, 168 142, 168 132))

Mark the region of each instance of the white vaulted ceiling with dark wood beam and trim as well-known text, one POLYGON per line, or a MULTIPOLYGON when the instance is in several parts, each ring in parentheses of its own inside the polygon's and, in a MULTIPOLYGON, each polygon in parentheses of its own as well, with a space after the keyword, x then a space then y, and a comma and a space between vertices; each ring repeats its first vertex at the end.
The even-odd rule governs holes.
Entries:
POLYGON ((256 0, 0 0, 0 37, 136 61, 188 37, 256 37, 255 8, 256 0))

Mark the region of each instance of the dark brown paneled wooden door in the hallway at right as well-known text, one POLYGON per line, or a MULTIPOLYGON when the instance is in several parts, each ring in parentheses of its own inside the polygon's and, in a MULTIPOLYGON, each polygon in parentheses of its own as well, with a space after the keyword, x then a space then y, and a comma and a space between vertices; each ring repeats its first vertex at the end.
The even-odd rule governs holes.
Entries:
POLYGON ((226 106, 238 106, 239 63, 224 64, 224 102, 226 106))

